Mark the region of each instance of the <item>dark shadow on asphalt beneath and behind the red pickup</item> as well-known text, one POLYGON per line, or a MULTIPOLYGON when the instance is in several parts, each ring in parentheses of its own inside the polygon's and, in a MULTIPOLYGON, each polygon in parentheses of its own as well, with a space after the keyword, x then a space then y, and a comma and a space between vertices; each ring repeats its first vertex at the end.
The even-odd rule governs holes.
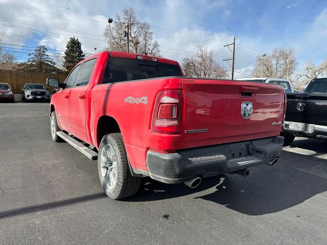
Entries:
POLYGON ((276 165, 250 168, 250 176, 246 178, 228 174, 207 178, 195 189, 153 180, 147 183, 136 197, 124 201, 155 201, 198 194, 194 199, 248 215, 262 215, 288 209, 327 191, 327 161, 283 151, 276 165))

